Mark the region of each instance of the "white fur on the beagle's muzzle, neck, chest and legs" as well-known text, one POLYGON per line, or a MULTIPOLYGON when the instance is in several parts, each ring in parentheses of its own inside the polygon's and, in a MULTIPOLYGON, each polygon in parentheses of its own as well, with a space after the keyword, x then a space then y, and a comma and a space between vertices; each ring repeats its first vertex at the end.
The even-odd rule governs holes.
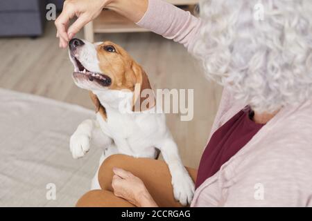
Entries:
MULTIPOLYGON (((103 73, 98 66, 99 61, 96 56, 98 44, 87 41, 84 43, 85 45, 76 50, 74 56, 88 70, 103 73)), ((72 58, 71 61, 77 70, 76 62, 72 58)), ((78 126, 70 139, 73 158, 83 157, 89 151, 91 140, 103 146, 100 165, 106 157, 114 153, 155 158, 155 148, 158 148, 171 172, 175 199, 184 205, 190 203, 193 198, 194 184, 182 164, 177 145, 166 126, 165 115, 148 111, 121 113, 119 111, 121 99, 128 97, 129 102, 132 102, 133 93, 109 90, 94 84, 93 81, 74 80, 77 86, 92 90, 98 97, 106 109, 107 119, 103 119, 102 115, 97 113, 96 119, 87 119, 78 126)), ((101 189, 98 184, 98 171, 92 180, 92 189, 101 189)))

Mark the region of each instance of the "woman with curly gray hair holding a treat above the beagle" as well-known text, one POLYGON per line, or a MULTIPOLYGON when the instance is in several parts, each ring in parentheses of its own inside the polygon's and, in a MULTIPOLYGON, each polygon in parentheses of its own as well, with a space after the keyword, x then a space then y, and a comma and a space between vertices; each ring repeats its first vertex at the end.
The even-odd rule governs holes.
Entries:
MULTIPOLYGON (((312 206, 311 0, 202 0, 200 19, 161 0, 66 1, 60 46, 104 7, 184 44, 224 86, 199 169, 188 169, 191 206, 312 206)), ((78 206, 180 206, 161 161, 113 155, 98 177, 103 190, 78 206)))

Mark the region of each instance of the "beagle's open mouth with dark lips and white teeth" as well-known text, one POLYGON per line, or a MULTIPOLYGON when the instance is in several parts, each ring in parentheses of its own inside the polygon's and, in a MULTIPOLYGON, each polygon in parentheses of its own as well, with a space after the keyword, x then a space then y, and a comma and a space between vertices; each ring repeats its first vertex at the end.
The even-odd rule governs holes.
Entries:
POLYGON ((110 86, 112 84, 112 79, 108 77, 107 75, 99 74, 99 73, 93 73, 89 70, 87 70, 76 57, 73 57, 73 59, 76 62, 76 67, 78 68, 78 71, 75 71, 73 73, 73 77, 80 78, 83 77, 85 79, 88 79, 89 81, 96 81, 96 83, 101 84, 101 86, 110 86))

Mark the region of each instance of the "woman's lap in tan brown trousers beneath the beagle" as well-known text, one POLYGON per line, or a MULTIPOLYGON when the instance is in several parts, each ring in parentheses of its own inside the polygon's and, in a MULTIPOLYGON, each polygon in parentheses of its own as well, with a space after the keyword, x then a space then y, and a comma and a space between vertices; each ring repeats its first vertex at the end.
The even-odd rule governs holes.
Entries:
MULTIPOLYGON (((113 167, 119 167, 125 171, 130 171, 133 175, 139 177, 146 185, 146 188, 157 205, 181 206, 181 204, 173 198, 171 175, 165 162, 149 158, 135 158, 128 155, 112 155, 107 157, 98 172, 98 181, 102 190, 89 191, 89 193, 86 193, 80 198, 77 206, 133 206, 130 202, 117 198, 112 193, 113 167), (107 199, 104 200, 104 198, 107 199), (119 203, 121 205, 119 205, 119 203)), ((188 168, 187 170, 193 181, 195 181, 197 171, 188 168)))

